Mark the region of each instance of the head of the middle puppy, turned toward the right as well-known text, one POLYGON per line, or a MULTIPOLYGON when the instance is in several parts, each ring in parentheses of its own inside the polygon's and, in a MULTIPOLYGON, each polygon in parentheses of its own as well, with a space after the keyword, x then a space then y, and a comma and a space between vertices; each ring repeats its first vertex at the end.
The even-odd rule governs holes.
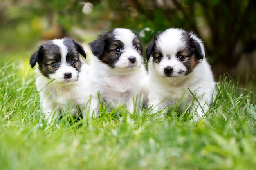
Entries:
POLYGON ((142 46, 139 36, 129 29, 116 28, 103 32, 90 43, 92 53, 113 69, 139 68, 142 46))

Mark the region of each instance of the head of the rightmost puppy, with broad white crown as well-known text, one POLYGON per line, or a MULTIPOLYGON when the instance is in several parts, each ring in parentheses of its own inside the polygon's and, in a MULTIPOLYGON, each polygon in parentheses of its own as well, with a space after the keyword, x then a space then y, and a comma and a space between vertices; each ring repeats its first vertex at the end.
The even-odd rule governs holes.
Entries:
POLYGON ((205 56, 204 45, 192 32, 167 29, 159 33, 146 48, 146 59, 164 77, 182 77, 193 71, 205 56))

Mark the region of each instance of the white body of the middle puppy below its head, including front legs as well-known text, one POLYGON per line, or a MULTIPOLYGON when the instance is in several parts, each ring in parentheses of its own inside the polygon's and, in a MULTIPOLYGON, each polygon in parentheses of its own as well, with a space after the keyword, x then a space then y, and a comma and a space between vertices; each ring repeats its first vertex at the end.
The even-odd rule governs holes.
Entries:
POLYGON ((134 109, 139 107, 141 95, 146 95, 144 92, 144 88, 146 88, 146 70, 144 66, 124 74, 111 70, 97 58, 94 58, 90 67, 91 84, 90 88, 88 88, 88 93, 92 95, 90 104, 91 115, 94 114, 96 116, 99 114, 98 91, 106 105, 111 103, 111 106, 115 107, 117 104, 119 106, 126 104, 127 110, 130 113, 133 113, 134 109), (137 102, 133 102, 136 99, 137 102), (134 108, 134 106, 136 107, 134 108))

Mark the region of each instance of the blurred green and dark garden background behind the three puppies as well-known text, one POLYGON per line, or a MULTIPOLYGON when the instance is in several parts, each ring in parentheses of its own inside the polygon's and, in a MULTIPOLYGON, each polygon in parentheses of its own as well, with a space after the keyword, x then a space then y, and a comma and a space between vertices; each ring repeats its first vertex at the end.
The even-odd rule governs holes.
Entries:
POLYGON ((159 31, 193 31, 215 76, 256 75, 254 0, 1 0, 0 57, 28 60, 43 41, 69 36, 91 42, 115 27, 140 33, 144 51, 159 31))

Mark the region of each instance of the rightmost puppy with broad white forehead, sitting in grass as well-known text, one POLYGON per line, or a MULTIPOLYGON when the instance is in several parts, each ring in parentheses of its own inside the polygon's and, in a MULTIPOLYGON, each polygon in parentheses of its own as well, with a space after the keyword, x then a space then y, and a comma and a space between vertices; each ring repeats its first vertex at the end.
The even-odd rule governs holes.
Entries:
POLYGON ((170 106, 186 108, 191 102, 194 119, 207 111, 216 83, 202 40, 195 34, 177 28, 159 33, 147 46, 146 59, 150 60, 148 105, 154 112, 168 113, 170 106))

